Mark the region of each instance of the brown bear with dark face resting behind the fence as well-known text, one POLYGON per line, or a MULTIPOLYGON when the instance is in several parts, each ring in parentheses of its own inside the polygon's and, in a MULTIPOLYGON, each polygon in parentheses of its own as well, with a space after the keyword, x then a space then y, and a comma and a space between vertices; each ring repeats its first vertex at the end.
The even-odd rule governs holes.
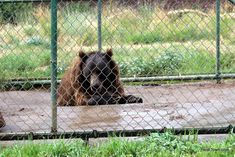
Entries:
POLYGON ((119 68, 112 56, 111 49, 105 53, 80 51, 58 87, 58 105, 142 103, 141 98, 124 94, 119 68))

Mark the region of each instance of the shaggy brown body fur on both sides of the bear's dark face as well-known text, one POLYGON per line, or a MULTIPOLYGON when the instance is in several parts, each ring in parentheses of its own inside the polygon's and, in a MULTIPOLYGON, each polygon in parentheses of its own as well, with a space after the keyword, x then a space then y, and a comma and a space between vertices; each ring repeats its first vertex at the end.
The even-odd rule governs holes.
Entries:
MULTIPOLYGON (((78 105, 87 105, 87 101, 91 98, 91 95, 82 89, 81 83, 85 80, 81 80, 82 68, 84 63, 82 58, 84 56, 91 56, 97 52, 79 52, 79 57, 75 60, 72 66, 64 74, 60 86, 58 87, 58 99, 57 103, 59 106, 78 106, 78 105)), ((113 86, 116 88, 112 96, 124 96, 124 89, 120 82, 119 77, 119 68, 114 60, 112 60, 112 50, 107 50, 107 55, 110 56, 109 65, 113 70, 113 73, 116 75, 115 80, 113 81, 113 86)))

